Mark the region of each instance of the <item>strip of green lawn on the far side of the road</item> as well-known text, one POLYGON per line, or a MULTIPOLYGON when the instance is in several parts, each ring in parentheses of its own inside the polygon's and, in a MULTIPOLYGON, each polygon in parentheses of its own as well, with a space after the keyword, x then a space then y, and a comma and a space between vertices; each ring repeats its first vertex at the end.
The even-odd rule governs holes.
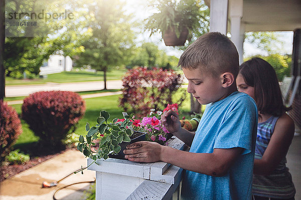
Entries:
MULTIPOLYGON (((108 71, 107 80, 121 79, 124 73, 127 71, 125 68, 115 69, 108 71)), ((46 82, 83 82, 83 81, 96 81, 103 80, 103 71, 89 72, 89 71, 63 71, 61 73, 49 74, 47 78, 36 79, 16 79, 6 77, 6 85, 20 85, 20 84, 43 84, 46 82)))

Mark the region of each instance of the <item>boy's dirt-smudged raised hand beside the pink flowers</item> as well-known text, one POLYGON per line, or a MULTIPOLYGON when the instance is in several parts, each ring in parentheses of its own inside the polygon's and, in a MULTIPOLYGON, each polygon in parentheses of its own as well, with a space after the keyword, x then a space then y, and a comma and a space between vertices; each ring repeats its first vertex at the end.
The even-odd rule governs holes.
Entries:
POLYGON ((181 129, 181 122, 179 120, 179 115, 173 110, 165 111, 161 116, 161 122, 165 128, 170 132, 178 132, 181 129))

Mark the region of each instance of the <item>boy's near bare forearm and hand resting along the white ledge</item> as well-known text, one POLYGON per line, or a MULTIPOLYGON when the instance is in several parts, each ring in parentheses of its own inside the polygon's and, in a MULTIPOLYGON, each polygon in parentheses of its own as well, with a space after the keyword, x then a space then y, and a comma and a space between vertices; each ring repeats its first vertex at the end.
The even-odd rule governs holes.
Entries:
POLYGON ((181 168, 212 176, 223 176, 242 148, 215 148, 212 153, 193 153, 163 146, 156 142, 140 141, 127 146, 125 158, 137 162, 164 161, 181 168))

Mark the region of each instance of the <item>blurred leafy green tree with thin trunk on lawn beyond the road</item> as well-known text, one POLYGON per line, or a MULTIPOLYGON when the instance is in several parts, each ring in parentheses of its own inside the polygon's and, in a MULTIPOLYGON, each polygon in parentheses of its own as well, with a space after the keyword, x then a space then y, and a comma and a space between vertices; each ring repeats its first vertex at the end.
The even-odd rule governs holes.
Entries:
POLYGON ((103 71, 106 89, 106 72, 126 64, 130 57, 134 39, 131 16, 124 13, 119 0, 96 0, 88 5, 88 10, 93 16, 88 22, 92 36, 83 42, 85 51, 79 54, 77 64, 103 71))

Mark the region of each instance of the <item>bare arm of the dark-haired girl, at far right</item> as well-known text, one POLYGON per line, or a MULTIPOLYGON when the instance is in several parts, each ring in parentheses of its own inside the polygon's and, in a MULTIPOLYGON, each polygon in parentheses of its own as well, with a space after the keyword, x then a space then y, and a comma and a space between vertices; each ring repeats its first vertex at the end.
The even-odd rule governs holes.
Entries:
POLYGON ((274 128, 271 139, 261 159, 254 160, 254 173, 270 174, 286 155, 294 135, 294 122, 286 114, 282 114, 274 128))

